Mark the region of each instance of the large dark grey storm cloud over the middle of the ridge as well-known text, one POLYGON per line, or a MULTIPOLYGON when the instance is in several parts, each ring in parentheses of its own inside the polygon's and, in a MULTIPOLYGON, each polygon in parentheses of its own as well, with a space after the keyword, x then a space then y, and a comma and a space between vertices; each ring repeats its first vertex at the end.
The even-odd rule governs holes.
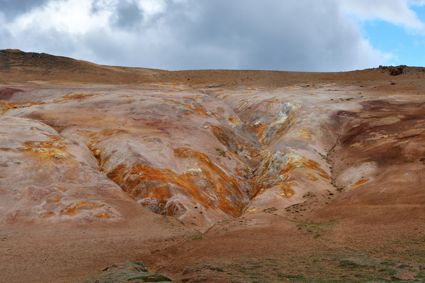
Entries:
POLYGON ((169 1, 143 27, 158 37, 139 42, 134 60, 172 70, 346 70, 367 61, 359 31, 329 1, 169 1))

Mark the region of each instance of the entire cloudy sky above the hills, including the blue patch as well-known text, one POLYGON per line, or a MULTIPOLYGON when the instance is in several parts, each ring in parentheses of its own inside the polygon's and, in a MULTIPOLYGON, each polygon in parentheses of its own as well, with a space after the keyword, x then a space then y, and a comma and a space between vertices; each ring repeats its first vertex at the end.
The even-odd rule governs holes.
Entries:
POLYGON ((165 70, 425 66, 425 0, 0 0, 0 49, 165 70))

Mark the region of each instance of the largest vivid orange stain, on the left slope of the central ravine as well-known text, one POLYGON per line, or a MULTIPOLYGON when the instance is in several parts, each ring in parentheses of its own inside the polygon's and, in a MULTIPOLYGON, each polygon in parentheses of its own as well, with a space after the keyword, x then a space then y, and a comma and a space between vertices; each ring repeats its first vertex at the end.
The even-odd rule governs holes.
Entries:
POLYGON ((227 175, 199 151, 178 148, 174 149, 174 154, 188 160, 190 169, 177 174, 170 169, 140 163, 119 164, 105 176, 128 196, 161 215, 180 215, 186 210, 184 205, 176 202, 176 192, 190 196, 207 210, 219 209, 232 217, 240 215, 245 205, 235 177, 227 175))

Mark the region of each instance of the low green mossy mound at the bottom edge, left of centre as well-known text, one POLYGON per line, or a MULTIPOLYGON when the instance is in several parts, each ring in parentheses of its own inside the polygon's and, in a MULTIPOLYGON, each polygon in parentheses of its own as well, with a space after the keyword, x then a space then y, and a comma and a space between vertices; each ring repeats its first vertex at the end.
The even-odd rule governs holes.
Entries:
POLYGON ((140 261, 113 263, 102 270, 101 274, 85 281, 85 283, 142 283, 142 282, 171 282, 171 279, 162 274, 147 272, 147 268, 140 261))

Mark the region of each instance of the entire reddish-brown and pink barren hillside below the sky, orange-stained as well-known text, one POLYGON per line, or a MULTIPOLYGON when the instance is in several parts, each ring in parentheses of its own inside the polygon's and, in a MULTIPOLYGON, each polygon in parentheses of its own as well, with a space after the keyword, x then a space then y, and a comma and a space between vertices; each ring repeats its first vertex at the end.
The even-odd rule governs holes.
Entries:
POLYGON ((0 83, 0 282, 424 281, 422 67, 0 83))

